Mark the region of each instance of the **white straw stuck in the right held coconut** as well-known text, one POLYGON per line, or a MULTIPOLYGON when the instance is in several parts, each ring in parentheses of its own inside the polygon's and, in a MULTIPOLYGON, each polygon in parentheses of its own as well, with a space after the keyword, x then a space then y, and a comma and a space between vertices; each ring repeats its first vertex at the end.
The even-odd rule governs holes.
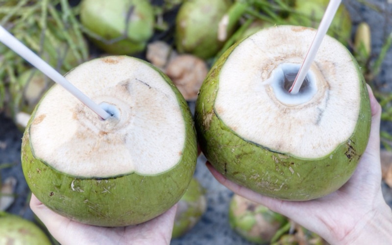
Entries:
POLYGON ((310 45, 308 53, 306 54, 305 59, 301 65, 301 68, 299 69, 297 76, 295 77, 294 83, 289 90, 290 93, 296 94, 296 93, 298 93, 299 89, 301 88, 301 85, 303 83, 303 80, 305 79, 306 73, 308 73, 310 65, 312 64, 313 60, 316 57, 316 53, 317 53, 317 50, 319 50, 319 48, 320 48, 322 39, 324 38, 325 34, 327 33, 327 30, 328 30, 329 26, 331 25, 332 20, 336 14, 336 11, 338 10, 341 2, 342 2, 342 0, 330 0, 329 1, 327 9, 325 10, 324 16, 321 19, 319 29, 316 32, 316 36, 313 39, 313 42, 310 45))

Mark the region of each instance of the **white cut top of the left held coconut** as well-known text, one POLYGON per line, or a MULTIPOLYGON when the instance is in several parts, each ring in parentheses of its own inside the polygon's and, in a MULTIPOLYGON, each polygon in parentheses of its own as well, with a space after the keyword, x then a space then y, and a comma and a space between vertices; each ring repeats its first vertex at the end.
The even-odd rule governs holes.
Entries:
POLYGON ((99 119, 55 85, 30 126, 37 158, 80 177, 155 175, 180 161, 185 121, 159 72, 137 59, 112 56, 86 62, 66 78, 113 117, 99 119))

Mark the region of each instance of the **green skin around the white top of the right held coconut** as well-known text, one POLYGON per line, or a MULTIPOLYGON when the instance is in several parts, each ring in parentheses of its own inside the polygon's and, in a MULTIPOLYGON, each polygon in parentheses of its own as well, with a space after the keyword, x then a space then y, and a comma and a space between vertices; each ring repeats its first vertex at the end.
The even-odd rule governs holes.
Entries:
POLYGON ((338 190, 354 172, 365 151, 370 132, 368 90, 355 59, 351 55, 362 83, 362 100, 353 134, 328 155, 318 159, 302 159, 246 141, 218 117, 215 98, 219 90, 220 71, 227 57, 240 43, 226 50, 213 65, 200 88, 195 123, 203 153, 227 179, 265 196, 285 200, 310 200, 338 190), (292 171, 300 177, 293 177, 292 171))

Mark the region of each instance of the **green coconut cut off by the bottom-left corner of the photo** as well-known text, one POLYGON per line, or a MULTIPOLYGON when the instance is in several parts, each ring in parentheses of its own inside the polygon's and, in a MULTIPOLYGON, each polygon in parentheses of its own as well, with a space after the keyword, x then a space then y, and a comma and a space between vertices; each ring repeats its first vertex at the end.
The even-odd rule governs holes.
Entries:
POLYGON ((4 212, 0 213, 0 244, 51 245, 33 222, 4 212))

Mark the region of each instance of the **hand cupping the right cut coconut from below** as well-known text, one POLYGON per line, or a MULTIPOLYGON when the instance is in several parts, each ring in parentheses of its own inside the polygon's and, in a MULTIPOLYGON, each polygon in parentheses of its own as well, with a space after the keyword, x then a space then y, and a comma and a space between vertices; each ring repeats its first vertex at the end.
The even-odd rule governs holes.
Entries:
POLYGON ((338 191, 310 201, 284 201, 262 196, 235 184, 207 167, 214 177, 234 193, 267 206, 330 244, 391 244, 392 212, 381 192, 381 106, 368 87, 372 112, 368 146, 349 181, 338 191))

